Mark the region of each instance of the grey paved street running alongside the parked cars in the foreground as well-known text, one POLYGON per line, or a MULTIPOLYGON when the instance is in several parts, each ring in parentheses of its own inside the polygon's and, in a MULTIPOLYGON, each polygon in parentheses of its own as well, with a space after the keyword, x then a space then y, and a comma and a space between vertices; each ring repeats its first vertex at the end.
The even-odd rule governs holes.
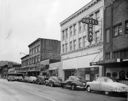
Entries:
POLYGON ((72 91, 0 79, 0 101, 127 101, 125 97, 72 91))

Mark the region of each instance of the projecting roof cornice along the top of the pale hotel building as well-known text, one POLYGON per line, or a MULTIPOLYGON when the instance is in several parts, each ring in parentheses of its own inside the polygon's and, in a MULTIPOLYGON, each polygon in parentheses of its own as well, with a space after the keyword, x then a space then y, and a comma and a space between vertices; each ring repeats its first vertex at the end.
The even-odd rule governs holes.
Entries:
POLYGON ((65 23, 67 23, 68 21, 72 20, 74 17, 79 16, 82 12, 84 12, 87 9, 89 9, 91 6, 93 6, 94 4, 96 4, 99 1, 102 1, 102 0, 91 0, 85 6, 83 6, 82 8, 80 8, 78 11, 76 11, 75 13, 73 13, 72 15, 70 15, 69 17, 67 17, 65 20, 63 20, 62 22, 60 22, 60 26, 63 26, 65 23))

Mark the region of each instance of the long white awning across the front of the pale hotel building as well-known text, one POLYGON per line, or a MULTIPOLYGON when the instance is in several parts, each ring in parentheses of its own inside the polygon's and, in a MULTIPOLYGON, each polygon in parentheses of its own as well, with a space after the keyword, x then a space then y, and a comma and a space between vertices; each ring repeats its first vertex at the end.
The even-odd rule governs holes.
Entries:
POLYGON ((91 62, 97 62, 103 57, 102 53, 89 54, 81 57, 71 58, 62 61, 63 69, 78 69, 96 67, 90 65, 91 62))

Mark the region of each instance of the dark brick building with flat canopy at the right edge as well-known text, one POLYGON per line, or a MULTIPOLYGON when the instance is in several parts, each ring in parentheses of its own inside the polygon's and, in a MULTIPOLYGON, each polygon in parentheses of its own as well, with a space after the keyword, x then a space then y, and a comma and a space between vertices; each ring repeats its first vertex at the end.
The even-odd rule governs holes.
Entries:
POLYGON ((105 75, 128 79, 128 0, 105 0, 105 75))

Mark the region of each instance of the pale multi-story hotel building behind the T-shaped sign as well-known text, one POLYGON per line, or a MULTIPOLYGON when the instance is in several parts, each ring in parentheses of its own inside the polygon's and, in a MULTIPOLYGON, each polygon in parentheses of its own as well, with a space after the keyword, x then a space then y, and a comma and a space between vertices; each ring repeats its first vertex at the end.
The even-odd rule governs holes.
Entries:
POLYGON ((91 65, 103 58, 103 0, 92 0, 60 23, 61 61, 64 79, 79 75, 85 80, 93 80, 102 75, 102 67, 91 65), (93 25, 93 38, 88 40, 88 25, 83 18, 98 20, 93 25))

